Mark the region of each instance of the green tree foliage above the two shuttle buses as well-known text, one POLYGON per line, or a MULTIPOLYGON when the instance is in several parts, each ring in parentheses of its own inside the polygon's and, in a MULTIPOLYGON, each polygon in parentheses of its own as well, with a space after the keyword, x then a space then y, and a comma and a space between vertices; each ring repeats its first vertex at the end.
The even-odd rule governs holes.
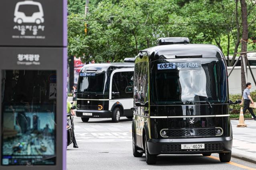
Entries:
MULTIPOLYGON (((84 3, 69 3, 68 24, 69 55, 81 56, 84 61, 122 61, 156 45, 160 37, 216 44, 227 55, 234 53, 237 32, 241 34, 232 0, 92 0, 86 17, 84 3)), ((256 12, 252 1, 248 1, 248 11, 249 38, 253 39, 256 12)), ((251 42, 249 49, 255 48, 251 42)))

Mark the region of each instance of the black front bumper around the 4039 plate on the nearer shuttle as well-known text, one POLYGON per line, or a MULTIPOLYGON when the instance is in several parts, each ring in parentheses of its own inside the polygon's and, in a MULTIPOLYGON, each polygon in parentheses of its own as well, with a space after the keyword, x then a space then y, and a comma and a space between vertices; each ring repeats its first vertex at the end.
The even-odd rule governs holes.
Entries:
POLYGON ((148 139, 149 154, 203 154, 231 152, 233 137, 148 139), (181 144, 204 144, 204 149, 181 149, 181 144))

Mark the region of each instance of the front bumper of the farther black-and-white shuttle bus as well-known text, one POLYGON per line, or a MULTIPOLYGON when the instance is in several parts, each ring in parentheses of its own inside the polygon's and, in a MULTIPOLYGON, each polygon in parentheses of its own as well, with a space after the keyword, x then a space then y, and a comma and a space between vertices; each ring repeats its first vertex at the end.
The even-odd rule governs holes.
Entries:
POLYGON ((111 111, 97 111, 97 110, 77 110, 77 117, 83 118, 111 118, 111 111))

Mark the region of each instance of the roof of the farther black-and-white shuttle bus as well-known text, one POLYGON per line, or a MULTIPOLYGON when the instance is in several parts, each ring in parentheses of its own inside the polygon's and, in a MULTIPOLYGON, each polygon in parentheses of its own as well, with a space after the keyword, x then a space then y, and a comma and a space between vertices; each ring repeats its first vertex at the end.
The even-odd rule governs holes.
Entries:
POLYGON ((107 71, 109 67, 114 67, 116 69, 121 69, 121 68, 129 68, 129 67, 134 67, 134 63, 95 63, 95 64, 86 64, 83 66, 81 71, 107 71))

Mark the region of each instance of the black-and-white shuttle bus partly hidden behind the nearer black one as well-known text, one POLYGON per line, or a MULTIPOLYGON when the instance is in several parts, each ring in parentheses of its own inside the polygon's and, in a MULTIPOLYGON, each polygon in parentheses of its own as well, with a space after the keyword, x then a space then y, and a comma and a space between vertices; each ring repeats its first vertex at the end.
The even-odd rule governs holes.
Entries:
POLYGON ((77 117, 83 122, 89 118, 133 118, 134 58, 124 63, 85 65, 80 72, 77 88, 77 117), (132 61, 132 63, 131 63, 132 61))

